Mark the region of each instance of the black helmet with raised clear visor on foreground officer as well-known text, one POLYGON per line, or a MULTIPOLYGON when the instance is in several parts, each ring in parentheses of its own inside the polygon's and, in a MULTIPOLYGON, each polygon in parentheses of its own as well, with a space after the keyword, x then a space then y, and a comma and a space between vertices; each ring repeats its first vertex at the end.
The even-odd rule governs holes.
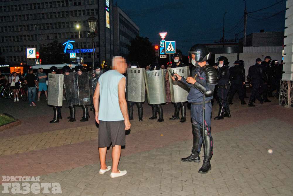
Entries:
POLYGON ((189 51, 189 63, 195 65, 195 63, 204 62, 210 59, 211 53, 207 49, 207 47, 203 44, 195 44, 193 45, 189 51), (194 57, 193 57, 194 55, 194 57))

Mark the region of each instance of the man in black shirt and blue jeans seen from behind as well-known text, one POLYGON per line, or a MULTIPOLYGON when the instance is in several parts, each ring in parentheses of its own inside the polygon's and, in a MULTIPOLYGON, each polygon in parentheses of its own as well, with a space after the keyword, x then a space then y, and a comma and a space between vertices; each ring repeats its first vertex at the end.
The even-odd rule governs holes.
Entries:
POLYGON ((25 83, 28 85, 28 102, 30 106, 36 106, 36 86, 39 88, 35 75, 33 74, 33 69, 28 70, 28 74, 25 76, 25 83))

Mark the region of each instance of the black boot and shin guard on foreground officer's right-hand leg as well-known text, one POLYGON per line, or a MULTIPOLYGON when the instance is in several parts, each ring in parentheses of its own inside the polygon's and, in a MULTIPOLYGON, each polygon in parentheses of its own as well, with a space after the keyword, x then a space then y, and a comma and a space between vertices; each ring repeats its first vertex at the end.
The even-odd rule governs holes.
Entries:
MULTIPOLYGON (((202 134, 202 130, 201 130, 201 134, 202 134)), ((211 169, 211 163, 210 160, 212 158, 212 150, 213 150, 213 146, 212 146, 212 137, 210 137, 208 134, 208 131, 205 129, 205 137, 203 138, 203 150, 205 153, 205 157, 203 159, 203 164, 202 167, 198 170, 198 173, 208 173, 211 169)))

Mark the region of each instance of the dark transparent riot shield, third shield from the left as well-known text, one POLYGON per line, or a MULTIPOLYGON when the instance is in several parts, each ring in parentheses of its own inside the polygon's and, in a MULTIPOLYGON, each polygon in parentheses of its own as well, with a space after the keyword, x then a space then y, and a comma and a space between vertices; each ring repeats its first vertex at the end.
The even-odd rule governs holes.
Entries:
POLYGON ((75 105, 91 105, 91 93, 88 72, 74 74, 75 105))

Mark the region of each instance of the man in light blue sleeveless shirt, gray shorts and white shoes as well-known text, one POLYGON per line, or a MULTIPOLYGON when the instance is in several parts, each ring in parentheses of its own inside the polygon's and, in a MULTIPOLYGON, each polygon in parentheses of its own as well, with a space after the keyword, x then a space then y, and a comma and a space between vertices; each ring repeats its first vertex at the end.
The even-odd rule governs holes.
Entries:
POLYGON ((125 146, 125 130, 130 129, 130 121, 127 112, 125 99, 126 79, 125 73, 127 64, 125 59, 116 56, 112 60, 113 70, 102 74, 96 86, 93 96, 96 121, 99 123, 98 147, 101 169, 104 174, 111 169, 106 166, 107 147, 112 143, 112 172, 111 178, 120 177, 126 171, 118 170, 118 163, 121 154, 121 146, 125 146))

